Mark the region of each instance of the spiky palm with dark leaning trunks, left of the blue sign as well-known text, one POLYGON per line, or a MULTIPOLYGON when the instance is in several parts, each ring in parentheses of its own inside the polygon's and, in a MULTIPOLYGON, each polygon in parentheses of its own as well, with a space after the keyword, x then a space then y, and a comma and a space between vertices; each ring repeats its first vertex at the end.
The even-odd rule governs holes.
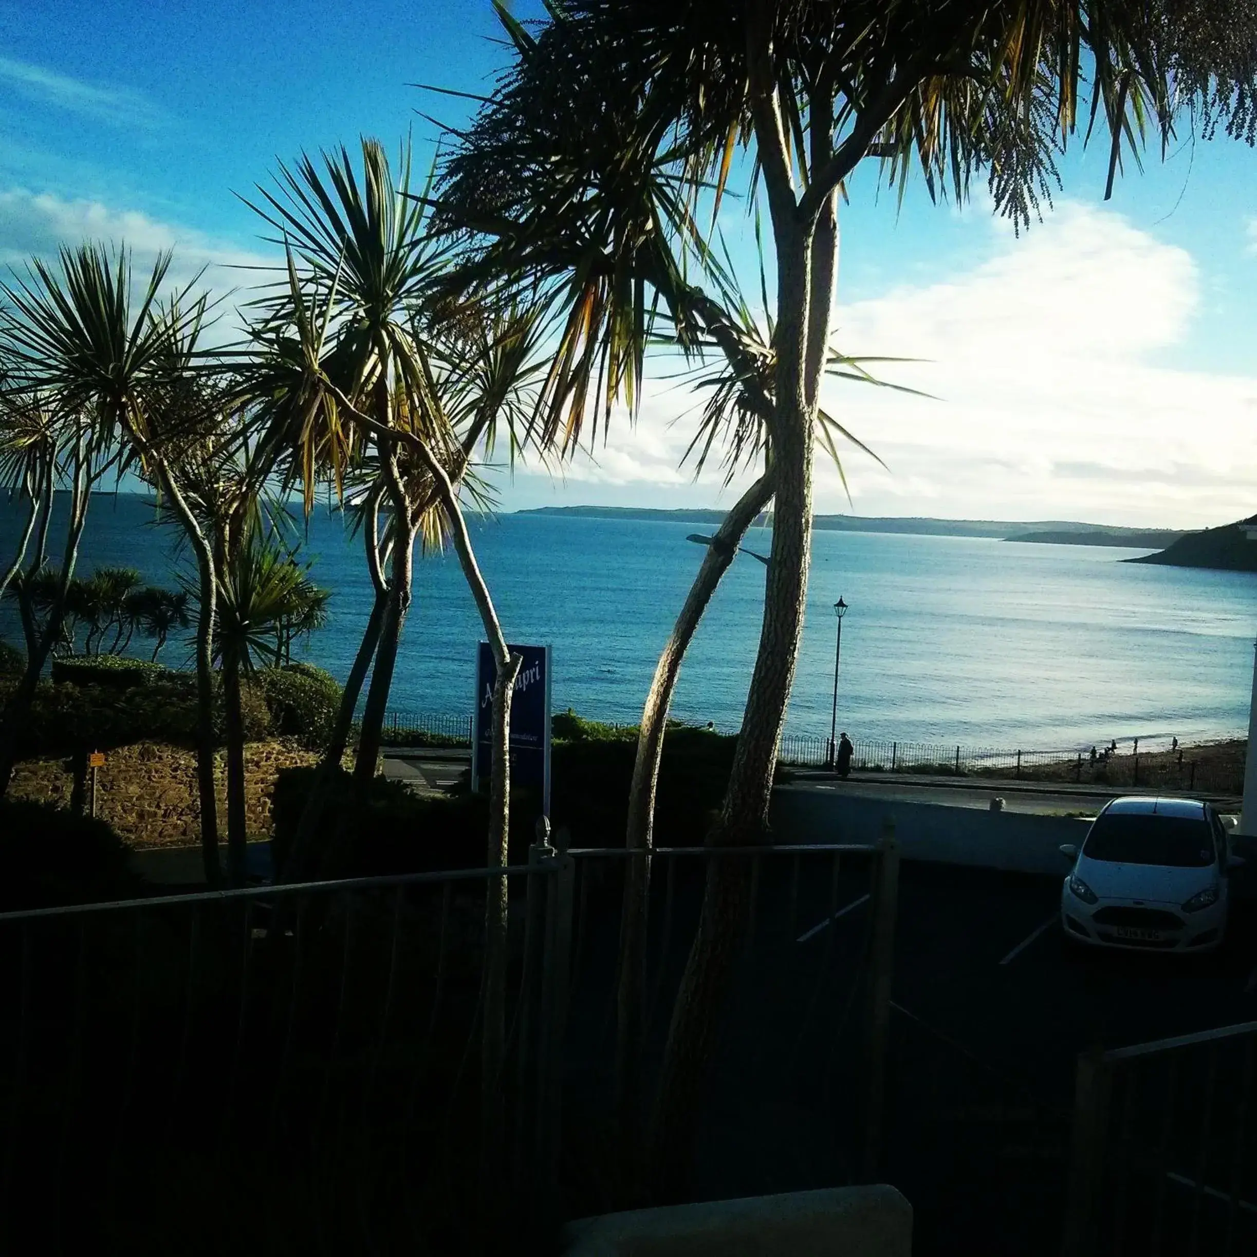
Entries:
MULTIPOLYGON (((415 543, 439 546, 446 527, 425 453, 456 486, 466 481, 476 450, 491 447, 498 424, 514 422, 515 395, 537 341, 535 316, 522 307, 481 310, 447 297, 449 249, 434 244, 424 199, 410 192, 407 150, 396 180, 380 145, 365 140, 361 176, 342 148, 324 158, 322 172, 309 158, 295 170, 280 167, 277 184, 263 190, 258 210, 285 245, 289 266, 263 303, 254 333, 264 351, 256 388, 260 395, 264 385, 289 410, 300 409, 303 422, 289 432, 307 494, 308 469, 318 460, 338 483, 354 460, 370 469, 365 539, 383 610, 368 623, 358 657, 362 664, 378 635, 354 768, 361 796, 378 758, 412 598, 415 543), (277 388, 275 377, 283 381, 285 373, 285 387, 277 388), (376 523, 382 505, 387 581, 376 523)), ((358 675, 365 678, 365 665, 356 664, 342 715, 352 714, 358 675)), ((339 757, 329 753, 328 760, 339 757)), ((316 806, 312 798, 308 816, 316 806)), ((300 848, 294 843, 294 859, 300 848)))

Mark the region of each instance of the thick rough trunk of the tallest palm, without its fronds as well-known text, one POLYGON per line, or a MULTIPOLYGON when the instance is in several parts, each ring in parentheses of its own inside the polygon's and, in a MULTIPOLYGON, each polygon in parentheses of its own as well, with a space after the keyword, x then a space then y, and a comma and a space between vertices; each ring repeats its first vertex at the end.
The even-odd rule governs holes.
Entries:
MULTIPOLYGON (((811 234, 774 220, 777 235, 776 415, 772 425, 777 478, 773 543, 764 592, 759 650, 724 806, 708 841, 753 846, 767 836, 777 744, 794 678, 803 628, 812 532, 812 451, 816 390, 808 380, 811 234), (812 400, 810 401, 810 395, 812 400)), ((825 283, 826 277, 816 280, 825 283)), ((828 277, 832 287, 832 274, 828 277)), ((672 1008, 651 1133, 656 1189, 684 1184, 703 1094, 703 1080, 738 954, 749 889, 749 861, 708 861, 699 928, 672 1008)))

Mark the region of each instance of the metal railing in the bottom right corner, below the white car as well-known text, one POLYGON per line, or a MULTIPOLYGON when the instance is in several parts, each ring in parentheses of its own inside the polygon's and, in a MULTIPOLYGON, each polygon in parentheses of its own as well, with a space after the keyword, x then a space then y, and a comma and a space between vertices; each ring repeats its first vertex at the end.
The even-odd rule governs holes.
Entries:
POLYGON ((1257 1251, 1257 1022, 1079 1057, 1063 1257, 1257 1251))

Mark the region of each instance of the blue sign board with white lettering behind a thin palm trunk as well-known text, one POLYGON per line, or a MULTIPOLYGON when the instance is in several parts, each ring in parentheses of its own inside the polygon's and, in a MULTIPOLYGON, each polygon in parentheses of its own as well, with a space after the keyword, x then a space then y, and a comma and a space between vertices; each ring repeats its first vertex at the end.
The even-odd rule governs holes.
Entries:
MULTIPOLYGON (((549 646, 508 646, 523 664, 510 700, 510 784, 541 791, 549 816, 551 650, 549 646)), ((493 766, 493 685, 498 665, 486 641, 475 661, 475 708, 471 718, 471 789, 489 788, 493 766)))

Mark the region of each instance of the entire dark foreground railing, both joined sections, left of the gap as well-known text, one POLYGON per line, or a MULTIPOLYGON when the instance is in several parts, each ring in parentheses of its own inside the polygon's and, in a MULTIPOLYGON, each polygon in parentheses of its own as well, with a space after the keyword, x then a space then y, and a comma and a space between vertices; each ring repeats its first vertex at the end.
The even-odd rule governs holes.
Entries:
POLYGON ((510 869, 0 916, 0 1252, 468 1252, 621 1205, 620 905, 647 859, 644 1086, 705 881, 737 866, 706 1129, 735 1115, 762 1190, 773 1165, 866 1177, 895 850, 539 845, 510 869), (495 982, 484 923, 502 879, 495 982))

